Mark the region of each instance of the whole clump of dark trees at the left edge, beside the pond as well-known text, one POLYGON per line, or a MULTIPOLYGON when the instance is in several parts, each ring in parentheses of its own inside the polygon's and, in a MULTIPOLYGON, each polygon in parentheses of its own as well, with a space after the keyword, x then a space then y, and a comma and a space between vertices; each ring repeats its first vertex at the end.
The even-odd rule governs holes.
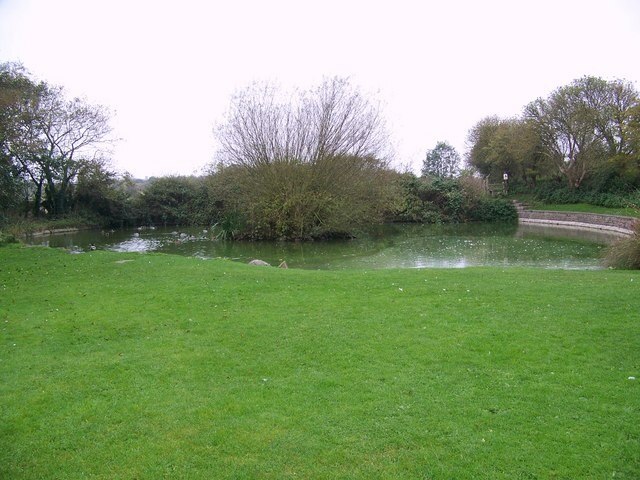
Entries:
POLYGON ((71 209, 79 176, 105 163, 109 113, 68 99, 61 87, 31 80, 20 65, 0 65, 0 181, 3 206, 27 201, 33 216, 71 209))

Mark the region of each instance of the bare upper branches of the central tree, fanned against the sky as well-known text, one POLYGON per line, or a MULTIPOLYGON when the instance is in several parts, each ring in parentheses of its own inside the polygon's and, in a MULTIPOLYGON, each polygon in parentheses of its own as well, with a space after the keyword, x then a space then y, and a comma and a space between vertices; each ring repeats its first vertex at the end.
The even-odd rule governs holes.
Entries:
POLYGON ((272 86, 254 85, 233 98, 216 134, 223 158, 245 167, 383 158, 388 142, 379 108, 341 78, 289 98, 272 86))

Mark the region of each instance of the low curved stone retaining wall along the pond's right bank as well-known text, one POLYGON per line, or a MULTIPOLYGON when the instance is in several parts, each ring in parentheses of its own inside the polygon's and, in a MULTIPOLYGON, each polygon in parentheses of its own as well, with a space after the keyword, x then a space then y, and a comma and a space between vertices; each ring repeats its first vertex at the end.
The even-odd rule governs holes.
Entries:
POLYGON ((518 209, 520 223, 560 225, 574 228, 607 230, 620 235, 633 235, 637 218, 603 215, 599 213, 553 212, 549 210, 518 209))

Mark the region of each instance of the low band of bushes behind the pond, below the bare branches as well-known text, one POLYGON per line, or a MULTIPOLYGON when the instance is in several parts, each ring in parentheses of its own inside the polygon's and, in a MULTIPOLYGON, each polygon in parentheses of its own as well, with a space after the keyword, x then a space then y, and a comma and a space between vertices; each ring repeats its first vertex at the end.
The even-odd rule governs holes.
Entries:
POLYGON ((105 226, 202 225, 223 239, 357 235, 385 221, 514 221, 511 202, 474 177, 416 177, 367 159, 256 169, 218 167, 203 177, 78 186, 76 215, 105 226))

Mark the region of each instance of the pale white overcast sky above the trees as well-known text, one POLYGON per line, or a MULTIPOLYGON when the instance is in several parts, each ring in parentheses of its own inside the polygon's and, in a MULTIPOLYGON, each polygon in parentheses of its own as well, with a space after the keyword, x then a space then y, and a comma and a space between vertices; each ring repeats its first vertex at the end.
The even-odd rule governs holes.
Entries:
POLYGON ((112 112, 113 166, 198 174, 256 81, 348 77, 380 102, 394 165, 419 172, 481 119, 584 75, 640 89, 638 0, 0 0, 0 62, 112 112))

